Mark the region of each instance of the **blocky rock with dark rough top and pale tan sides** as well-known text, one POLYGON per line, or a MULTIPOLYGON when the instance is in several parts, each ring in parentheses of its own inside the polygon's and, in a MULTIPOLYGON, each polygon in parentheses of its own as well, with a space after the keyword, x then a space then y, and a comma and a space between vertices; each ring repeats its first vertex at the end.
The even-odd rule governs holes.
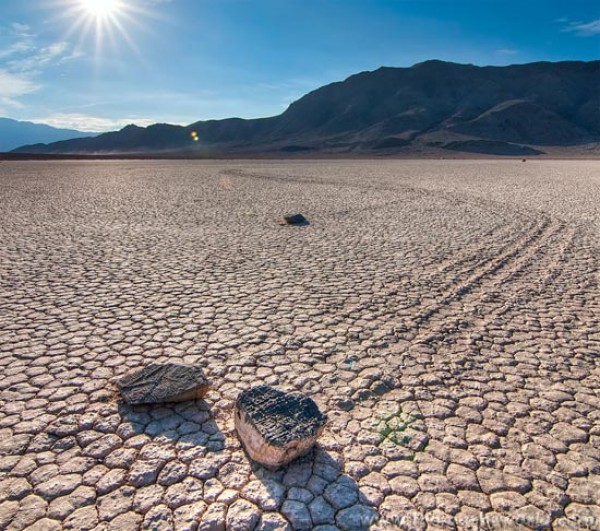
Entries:
POLYGON ((312 399, 267 385, 244 391, 235 405, 235 427, 244 448, 253 460, 268 467, 308 452, 326 422, 312 399))

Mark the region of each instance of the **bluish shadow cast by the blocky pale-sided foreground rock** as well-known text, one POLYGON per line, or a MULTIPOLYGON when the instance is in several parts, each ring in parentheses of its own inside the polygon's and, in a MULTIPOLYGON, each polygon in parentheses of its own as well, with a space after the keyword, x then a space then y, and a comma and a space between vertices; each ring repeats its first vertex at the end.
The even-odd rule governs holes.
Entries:
POLYGON ((361 531, 379 519, 356 481, 344 473, 343 463, 319 445, 277 470, 254 462, 252 469, 264 498, 253 501, 277 505, 294 530, 334 526, 361 531))

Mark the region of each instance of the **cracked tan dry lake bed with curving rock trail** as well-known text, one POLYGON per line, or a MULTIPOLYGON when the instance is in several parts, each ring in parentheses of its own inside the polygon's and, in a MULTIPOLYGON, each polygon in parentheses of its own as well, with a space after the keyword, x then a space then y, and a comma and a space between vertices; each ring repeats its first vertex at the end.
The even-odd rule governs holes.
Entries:
POLYGON ((597 161, 0 163, 0 529, 600 529, 599 228, 597 161), (279 470, 259 384, 329 419, 279 470))

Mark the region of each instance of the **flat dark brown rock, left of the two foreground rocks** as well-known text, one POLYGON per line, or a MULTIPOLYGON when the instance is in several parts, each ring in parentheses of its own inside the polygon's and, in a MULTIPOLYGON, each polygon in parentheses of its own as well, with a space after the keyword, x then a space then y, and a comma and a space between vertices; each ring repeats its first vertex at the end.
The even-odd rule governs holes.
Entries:
POLYGON ((185 402, 202 398, 209 389, 201 367, 177 363, 151 363, 128 372, 116 383, 129 404, 185 402))

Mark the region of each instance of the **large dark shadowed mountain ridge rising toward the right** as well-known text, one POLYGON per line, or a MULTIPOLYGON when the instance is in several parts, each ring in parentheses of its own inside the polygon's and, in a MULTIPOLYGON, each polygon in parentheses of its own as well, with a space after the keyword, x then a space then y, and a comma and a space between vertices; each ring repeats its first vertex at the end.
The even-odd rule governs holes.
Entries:
MULTIPOLYGON (((457 149, 490 141, 570 146, 600 141, 600 61, 477 67, 427 61, 380 68, 310 92, 272 118, 187 127, 128 126, 97 138, 25 146, 21 153, 371 151, 457 149), (196 131, 199 141, 190 136, 196 131), (293 149, 292 149, 293 148, 293 149)), ((499 148, 500 147, 500 148, 499 148)))

